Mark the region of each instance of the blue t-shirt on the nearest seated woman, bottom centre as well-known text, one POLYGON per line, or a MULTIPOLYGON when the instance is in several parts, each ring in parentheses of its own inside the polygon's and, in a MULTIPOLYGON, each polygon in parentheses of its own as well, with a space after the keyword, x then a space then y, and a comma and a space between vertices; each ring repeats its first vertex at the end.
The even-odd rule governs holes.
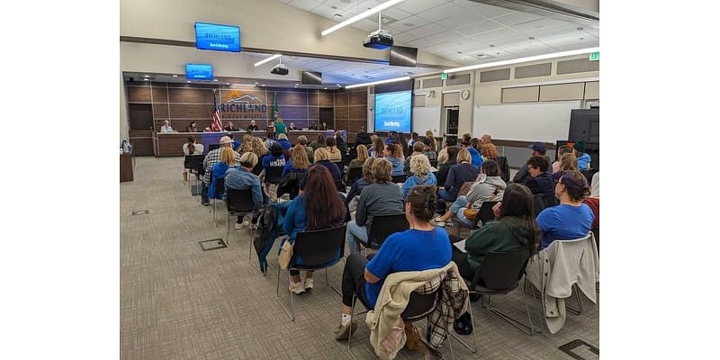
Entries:
POLYGON ((408 229, 392 234, 385 239, 375 257, 365 266, 367 271, 380 279, 375 284, 365 283, 367 302, 371 307, 375 307, 380 289, 388 275, 402 271, 437 269, 446 266, 452 257, 453 250, 445 229, 408 229))

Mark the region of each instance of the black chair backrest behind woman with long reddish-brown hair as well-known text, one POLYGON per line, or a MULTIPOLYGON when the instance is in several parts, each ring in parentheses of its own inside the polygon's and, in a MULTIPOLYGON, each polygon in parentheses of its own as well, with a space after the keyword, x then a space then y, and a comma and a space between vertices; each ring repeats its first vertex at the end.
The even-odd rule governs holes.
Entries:
POLYGON ((320 266, 345 257, 347 224, 330 229, 300 231, 295 238, 293 257, 302 258, 302 266, 320 266))

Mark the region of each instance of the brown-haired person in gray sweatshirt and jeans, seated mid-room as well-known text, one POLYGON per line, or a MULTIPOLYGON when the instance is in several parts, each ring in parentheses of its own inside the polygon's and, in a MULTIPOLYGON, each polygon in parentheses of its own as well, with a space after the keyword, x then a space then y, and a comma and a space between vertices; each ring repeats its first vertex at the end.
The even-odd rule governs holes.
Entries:
MULTIPOLYGON (((360 242, 368 243, 375 216, 397 215, 404 211, 400 186, 392 183, 392 164, 386 158, 373 163, 374 183, 367 185, 357 202, 356 220, 347 223, 347 245, 351 253, 360 252, 360 242)), ((434 187, 433 187, 434 188, 434 187)))

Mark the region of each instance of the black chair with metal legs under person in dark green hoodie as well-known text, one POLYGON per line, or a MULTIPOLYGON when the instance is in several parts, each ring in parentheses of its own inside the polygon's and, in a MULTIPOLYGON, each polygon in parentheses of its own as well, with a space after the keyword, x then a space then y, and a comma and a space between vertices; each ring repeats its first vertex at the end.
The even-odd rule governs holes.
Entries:
MULTIPOLYGON (((492 313, 498 315, 500 319, 508 321, 512 326, 522 330, 527 335, 532 336, 533 333, 536 332, 536 329, 533 327, 533 320, 530 317, 530 309, 527 307, 525 292, 520 293, 523 297, 523 302, 525 303, 527 320, 529 320, 530 323, 529 326, 524 324, 522 321, 490 306, 491 296, 505 295, 518 288, 520 279, 525 274, 525 268, 530 255, 530 251, 527 249, 488 253, 482 260, 480 268, 475 272, 473 282, 469 285, 469 290, 470 293, 482 294, 487 297, 487 303, 483 304, 481 302, 482 307, 492 311, 492 313)), ((535 293, 535 290, 533 290, 533 293, 535 293)), ((537 311, 539 313, 539 310, 537 311)), ((537 332, 542 332, 542 325, 540 331, 537 332)))

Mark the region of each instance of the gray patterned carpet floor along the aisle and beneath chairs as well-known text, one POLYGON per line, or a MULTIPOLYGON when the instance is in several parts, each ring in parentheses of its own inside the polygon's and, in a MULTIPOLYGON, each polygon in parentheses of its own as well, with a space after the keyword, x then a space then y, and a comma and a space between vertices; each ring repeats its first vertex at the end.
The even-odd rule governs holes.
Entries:
MULTIPOLYGON (((211 212, 183 182, 182 163, 181 157, 138 157, 135 181, 120 186, 121 359, 350 359, 347 342, 333 336, 341 299, 324 286, 322 273, 315 275, 311 293, 295 297, 291 321, 275 300, 275 251, 266 276, 247 262, 247 229, 231 229, 228 248, 202 251, 199 241, 225 238, 224 206, 218 207, 216 227, 211 212), (148 214, 132 215, 143 210, 148 214)), ((253 259, 257 264, 255 254, 253 259)), ((329 282, 338 289, 342 265, 329 269, 329 282)), ((286 304, 287 286, 283 273, 280 293, 286 304)), ((529 296, 527 302, 537 326, 535 303, 529 296)), ((492 303, 518 319, 526 317, 519 289, 492 303)), ((599 347, 599 304, 583 298, 583 310, 580 316, 569 314, 558 333, 545 329, 530 337, 473 302, 479 351, 473 354, 452 339, 455 358, 572 359, 558 347, 575 339, 599 347)), ((358 319, 353 353, 374 359, 364 319, 358 319)), ((417 323, 421 334, 424 324, 417 323)), ((461 338, 472 345, 471 337, 461 338)), ((447 342, 442 350, 449 358, 447 342)), ((403 349, 398 358, 423 356, 403 349)))

